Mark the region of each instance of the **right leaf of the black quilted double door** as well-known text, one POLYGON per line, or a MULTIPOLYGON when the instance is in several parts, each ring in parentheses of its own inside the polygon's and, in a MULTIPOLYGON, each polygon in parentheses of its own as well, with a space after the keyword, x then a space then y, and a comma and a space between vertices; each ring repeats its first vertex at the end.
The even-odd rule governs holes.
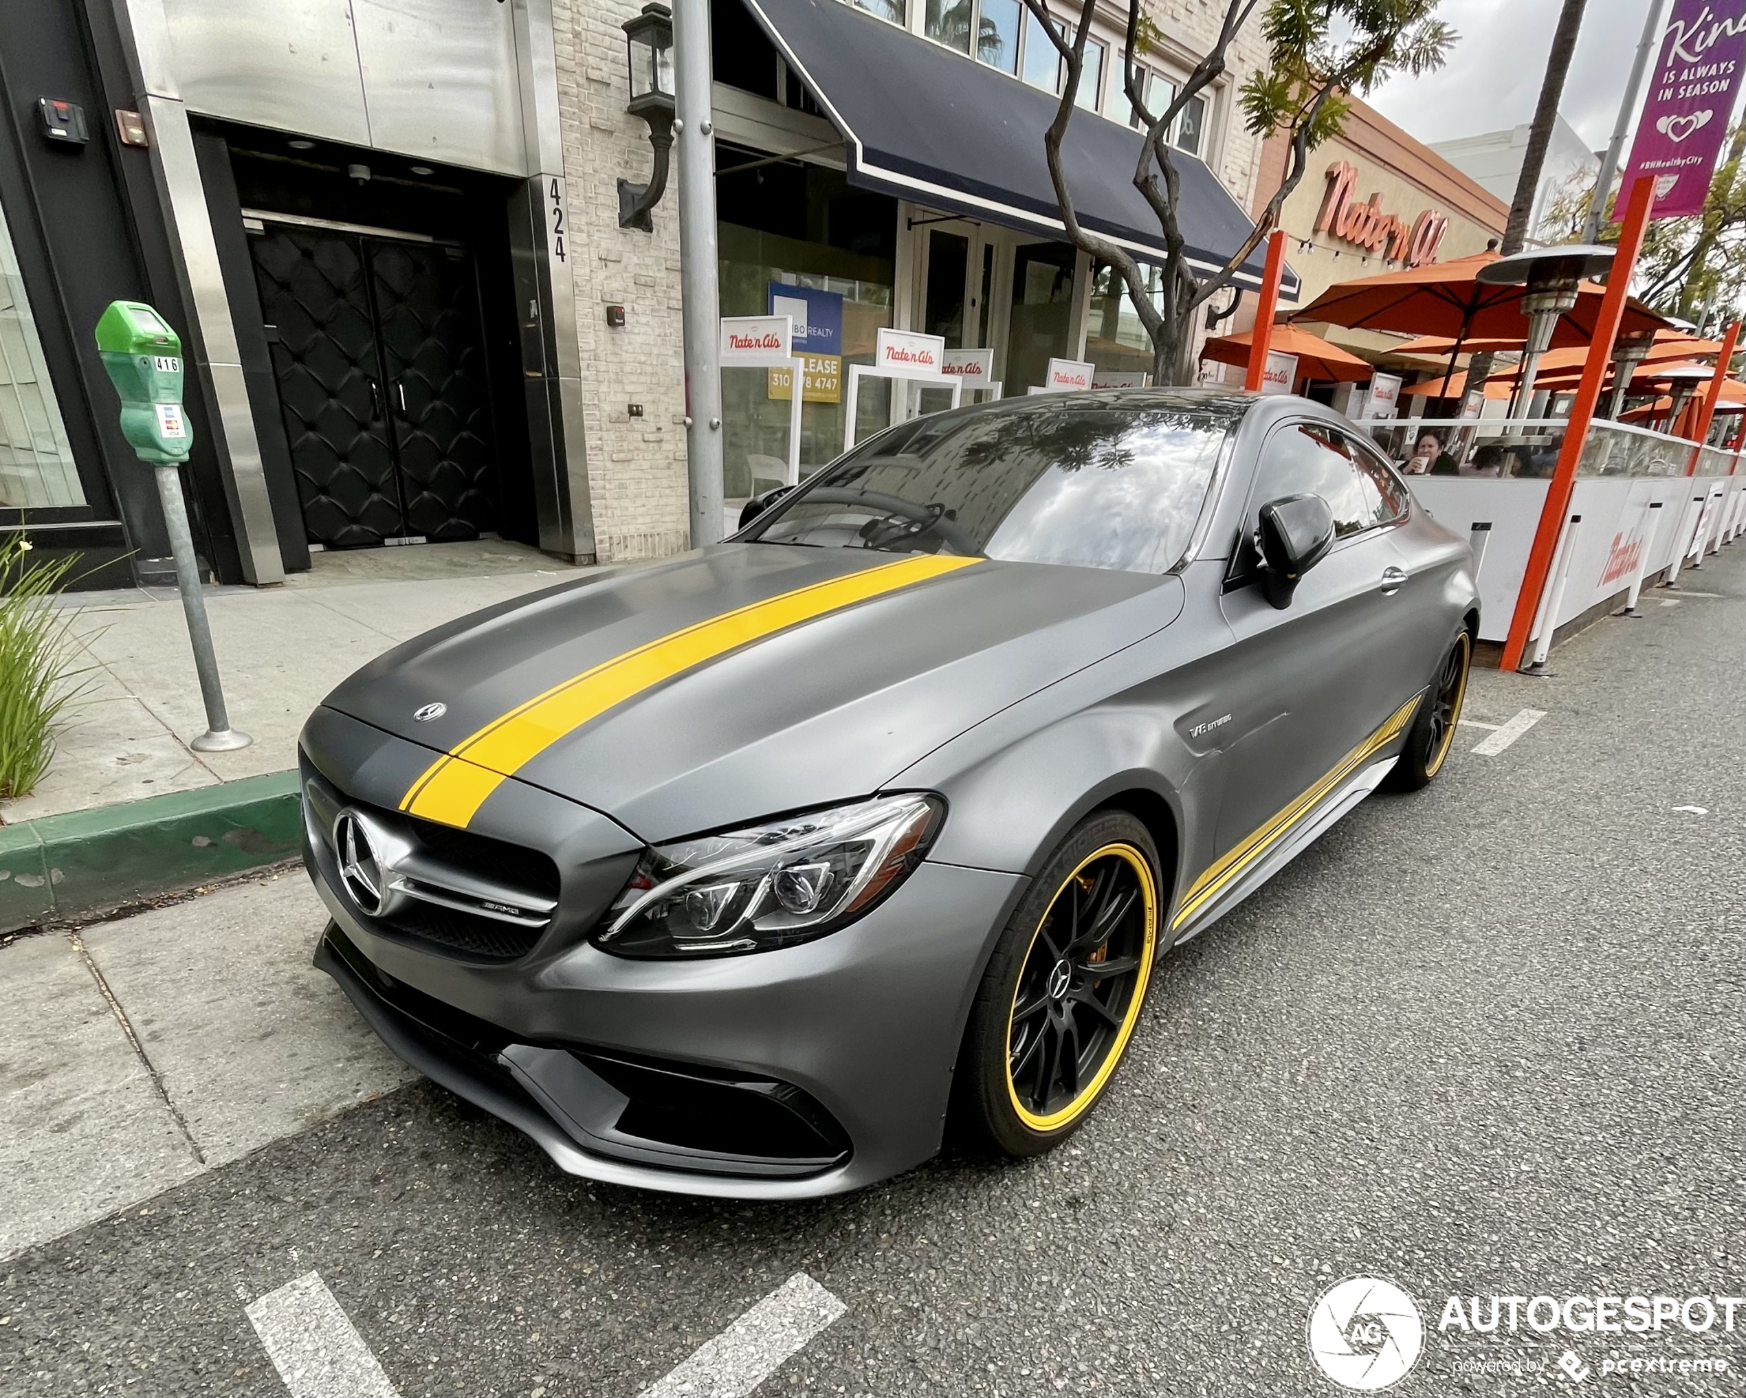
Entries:
POLYGON ((498 457, 478 288, 464 248, 365 239, 407 532, 498 527, 498 457))

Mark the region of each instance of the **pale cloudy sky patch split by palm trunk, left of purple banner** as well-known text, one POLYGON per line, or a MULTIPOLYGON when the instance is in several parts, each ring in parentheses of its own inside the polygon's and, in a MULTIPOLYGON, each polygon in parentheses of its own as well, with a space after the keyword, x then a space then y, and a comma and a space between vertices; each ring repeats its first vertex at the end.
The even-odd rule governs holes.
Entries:
MULTIPOLYGON (((1591 150, 1613 134, 1648 3, 1587 0, 1559 110, 1591 150)), ((1442 0, 1437 12, 1461 35, 1447 65, 1425 77, 1393 79, 1371 94, 1371 106, 1421 141, 1531 120, 1559 9, 1559 0, 1442 0)))

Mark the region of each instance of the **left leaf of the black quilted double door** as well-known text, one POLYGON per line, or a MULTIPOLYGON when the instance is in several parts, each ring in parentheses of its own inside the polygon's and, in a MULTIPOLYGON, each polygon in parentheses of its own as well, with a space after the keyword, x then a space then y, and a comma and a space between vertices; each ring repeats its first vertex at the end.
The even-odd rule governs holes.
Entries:
POLYGON ((363 239, 269 225, 250 248, 309 541, 403 538, 363 239))

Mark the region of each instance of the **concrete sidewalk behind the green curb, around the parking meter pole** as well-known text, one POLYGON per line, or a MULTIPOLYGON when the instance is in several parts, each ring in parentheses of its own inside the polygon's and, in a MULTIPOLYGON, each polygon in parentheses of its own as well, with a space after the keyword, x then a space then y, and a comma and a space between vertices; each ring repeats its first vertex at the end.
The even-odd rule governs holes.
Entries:
POLYGON ((524 545, 412 545, 316 553, 278 588, 211 588, 230 724, 241 752, 192 752, 206 728, 187 625, 173 590, 70 593, 91 689, 47 777, 0 801, 0 824, 288 771, 297 731, 339 681, 419 632, 590 569, 524 545))

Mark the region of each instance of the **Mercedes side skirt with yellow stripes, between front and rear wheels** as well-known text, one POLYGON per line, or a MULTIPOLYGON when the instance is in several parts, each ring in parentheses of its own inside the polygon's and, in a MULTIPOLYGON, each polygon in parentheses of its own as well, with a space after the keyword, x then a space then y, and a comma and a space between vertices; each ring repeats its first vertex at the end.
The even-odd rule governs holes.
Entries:
POLYGON ((1413 723, 1423 693, 1402 703, 1369 738, 1348 752, 1322 780, 1213 862, 1184 894, 1170 920, 1173 941, 1205 932, 1262 883, 1310 848, 1358 801, 1376 791, 1399 756, 1376 754, 1413 723))

